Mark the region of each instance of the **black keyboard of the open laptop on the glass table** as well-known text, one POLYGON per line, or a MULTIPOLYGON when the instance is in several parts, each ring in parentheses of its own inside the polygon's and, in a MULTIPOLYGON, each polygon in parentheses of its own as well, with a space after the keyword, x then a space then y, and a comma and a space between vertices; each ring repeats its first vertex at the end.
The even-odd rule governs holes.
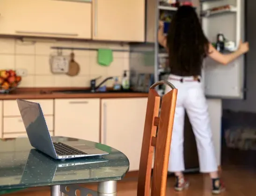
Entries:
POLYGON ((87 154, 60 142, 53 142, 53 146, 55 148, 56 153, 59 155, 65 156, 65 155, 87 154))

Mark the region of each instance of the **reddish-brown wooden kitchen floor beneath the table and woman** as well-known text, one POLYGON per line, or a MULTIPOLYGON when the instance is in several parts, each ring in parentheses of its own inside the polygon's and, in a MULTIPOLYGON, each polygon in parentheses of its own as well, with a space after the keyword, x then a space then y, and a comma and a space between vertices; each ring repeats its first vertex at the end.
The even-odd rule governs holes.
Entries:
MULTIPOLYGON (((223 156, 222 160, 225 163, 222 166, 222 178, 227 190, 221 196, 256 196, 256 152, 224 150, 223 156)), ((186 176, 190 181, 190 187, 180 193, 174 191, 174 177, 169 176, 166 196, 212 196, 211 180, 208 175, 189 174, 186 176)), ((94 184, 87 187, 97 189, 94 184)), ((118 196, 136 196, 136 189, 137 179, 134 177, 127 177, 117 184, 118 196)), ((50 196, 50 191, 49 188, 40 191, 30 189, 7 196, 50 196)))

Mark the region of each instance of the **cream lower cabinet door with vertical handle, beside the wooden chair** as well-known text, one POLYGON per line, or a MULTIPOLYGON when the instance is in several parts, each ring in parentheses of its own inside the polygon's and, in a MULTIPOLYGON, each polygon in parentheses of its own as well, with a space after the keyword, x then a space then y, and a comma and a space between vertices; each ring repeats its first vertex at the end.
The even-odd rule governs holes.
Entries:
POLYGON ((147 98, 102 99, 101 142, 124 153, 139 170, 147 98))

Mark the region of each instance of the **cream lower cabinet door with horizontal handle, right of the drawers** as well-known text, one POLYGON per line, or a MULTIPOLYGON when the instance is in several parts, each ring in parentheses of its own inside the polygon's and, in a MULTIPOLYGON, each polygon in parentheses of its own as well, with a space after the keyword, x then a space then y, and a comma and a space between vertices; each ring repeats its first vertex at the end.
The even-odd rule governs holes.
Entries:
POLYGON ((55 99, 55 135, 99 142, 100 99, 55 99))

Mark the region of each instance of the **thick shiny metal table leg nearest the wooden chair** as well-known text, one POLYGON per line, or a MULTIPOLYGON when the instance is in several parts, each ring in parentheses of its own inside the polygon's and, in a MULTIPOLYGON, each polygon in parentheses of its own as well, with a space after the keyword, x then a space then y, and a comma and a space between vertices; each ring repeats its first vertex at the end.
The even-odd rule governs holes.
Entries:
POLYGON ((117 181, 99 182, 98 196, 117 196, 117 181))

